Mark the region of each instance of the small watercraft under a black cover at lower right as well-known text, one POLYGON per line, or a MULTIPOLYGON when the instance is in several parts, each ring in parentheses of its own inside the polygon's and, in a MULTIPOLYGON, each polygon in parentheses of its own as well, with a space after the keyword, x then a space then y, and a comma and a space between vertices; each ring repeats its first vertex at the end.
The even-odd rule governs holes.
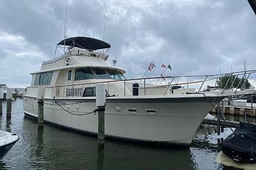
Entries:
POLYGON ((221 150, 238 162, 256 163, 256 125, 240 122, 234 134, 221 144, 221 150))

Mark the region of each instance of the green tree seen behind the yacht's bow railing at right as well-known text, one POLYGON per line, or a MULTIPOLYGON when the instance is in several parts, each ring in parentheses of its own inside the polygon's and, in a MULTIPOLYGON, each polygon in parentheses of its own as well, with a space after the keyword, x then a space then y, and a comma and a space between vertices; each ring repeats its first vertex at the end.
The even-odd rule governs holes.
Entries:
MULTIPOLYGON (((228 81, 225 89, 230 89, 231 85, 232 85, 232 81, 234 81, 232 87, 237 88, 237 89, 241 89, 242 85, 244 84, 244 78, 242 78, 242 81, 241 81, 241 78, 238 78, 236 76, 232 76, 230 78, 229 77, 230 77, 230 75, 222 76, 221 78, 219 78, 219 80, 217 81, 218 87, 223 89, 225 87, 227 81, 228 81), (239 81, 241 81, 240 84, 239 84, 239 81)), ((245 81, 245 89, 249 89, 250 87, 251 87, 251 83, 248 80, 246 80, 245 81)))

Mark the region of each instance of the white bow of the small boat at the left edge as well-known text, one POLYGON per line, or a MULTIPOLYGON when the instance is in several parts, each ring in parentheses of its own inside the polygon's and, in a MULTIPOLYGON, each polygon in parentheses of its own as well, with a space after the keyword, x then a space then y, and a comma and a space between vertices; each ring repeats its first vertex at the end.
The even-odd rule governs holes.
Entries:
POLYGON ((19 140, 17 134, 0 131, 0 160, 12 148, 12 146, 19 140))

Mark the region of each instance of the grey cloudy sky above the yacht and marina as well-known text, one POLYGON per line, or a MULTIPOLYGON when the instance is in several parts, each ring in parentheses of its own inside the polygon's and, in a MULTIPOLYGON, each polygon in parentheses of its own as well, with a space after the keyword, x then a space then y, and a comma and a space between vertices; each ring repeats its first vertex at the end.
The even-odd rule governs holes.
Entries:
MULTIPOLYGON (((26 87, 64 37, 65 0, 2 0, 0 21, 0 83, 26 87)), ((152 60, 146 76, 159 76, 163 63, 173 67, 164 76, 241 71, 244 60, 256 69, 256 16, 246 0, 67 0, 68 37, 103 39, 104 23, 109 62, 128 78, 152 60)))

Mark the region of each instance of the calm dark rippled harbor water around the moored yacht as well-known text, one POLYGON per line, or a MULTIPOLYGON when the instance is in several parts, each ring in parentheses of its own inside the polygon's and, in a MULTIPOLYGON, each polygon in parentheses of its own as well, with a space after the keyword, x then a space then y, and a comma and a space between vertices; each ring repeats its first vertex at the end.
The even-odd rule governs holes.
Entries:
POLYGON ((3 104, 0 129, 18 134, 20 140, 1 161, 1 169, 230 169, 215 160, 219 138, 231 133, 228 128, 217 136, 213 126, 201 126, 186 148, 107 139, 103 152, 97 149, 97 138, 50 125, 38 129, 34 120, 24 117, 22 102, 13 101, 7 120, 3 104))

